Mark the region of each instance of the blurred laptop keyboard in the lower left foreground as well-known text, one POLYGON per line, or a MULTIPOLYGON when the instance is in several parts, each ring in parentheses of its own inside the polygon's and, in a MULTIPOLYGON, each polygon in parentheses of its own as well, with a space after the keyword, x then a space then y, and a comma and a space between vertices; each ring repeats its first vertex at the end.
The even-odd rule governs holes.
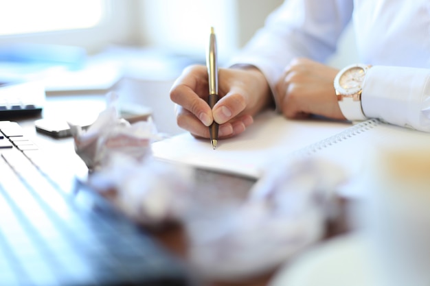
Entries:
POLYGON ((17 123, 0 131, 0 285, 190 285, 142 228, 63 191, 17 123))

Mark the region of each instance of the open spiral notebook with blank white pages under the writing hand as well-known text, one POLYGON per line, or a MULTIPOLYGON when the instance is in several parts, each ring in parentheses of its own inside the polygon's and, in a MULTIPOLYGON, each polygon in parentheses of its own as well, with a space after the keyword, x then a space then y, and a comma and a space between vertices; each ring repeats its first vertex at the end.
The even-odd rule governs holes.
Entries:
POLYGON ((256 118, 244 133, 218 141, 212 150, 209 140, 188 132, 153 143, 156 158, 185 163, 202 169, 260 178, 264 171, 291 155, 317 155, 352 173, 365 167, 369 147, 425 143, 430 134, 393 126, 378 119, 351 123, 327 120, 288 120, 275 112, 256 118))

